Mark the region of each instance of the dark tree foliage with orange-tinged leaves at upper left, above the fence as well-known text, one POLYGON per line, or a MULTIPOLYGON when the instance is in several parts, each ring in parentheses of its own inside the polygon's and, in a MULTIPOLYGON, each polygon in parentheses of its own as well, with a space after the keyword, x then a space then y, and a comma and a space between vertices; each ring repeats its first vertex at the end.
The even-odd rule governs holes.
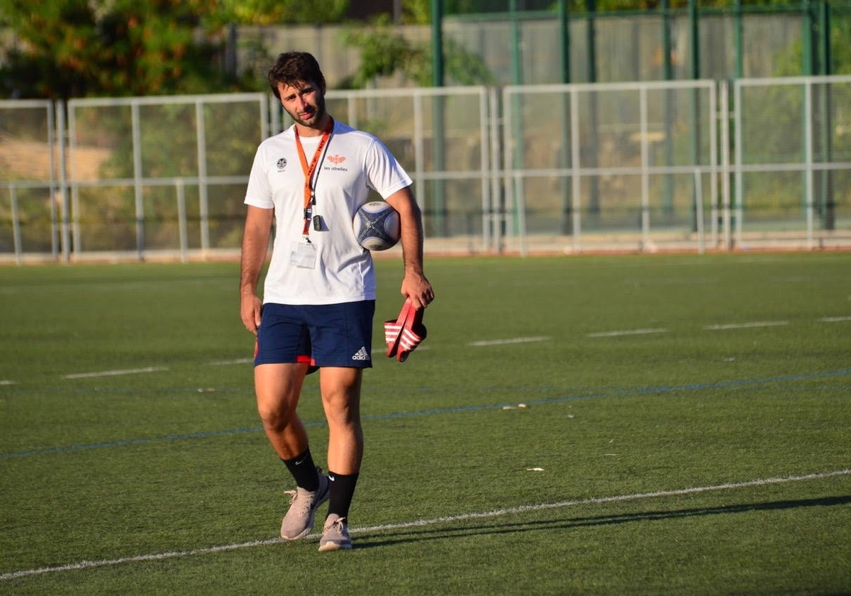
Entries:
MULTIPOLYGON (((229 24, 339 20, 349 0, 0 0, 14 31, 7 97, 68 99, 256 89, 221 67, 229 24)), ((0 49, 0 54, 3 49, 0 49)))

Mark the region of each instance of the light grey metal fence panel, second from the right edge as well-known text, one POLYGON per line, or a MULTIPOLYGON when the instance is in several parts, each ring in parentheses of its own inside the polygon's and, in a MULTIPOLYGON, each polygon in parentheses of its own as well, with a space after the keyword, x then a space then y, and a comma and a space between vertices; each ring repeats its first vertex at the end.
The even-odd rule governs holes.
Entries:
POLYGON ((517 249, 705 249, 715 83, 509 87, 503 96, 507 237, 517 249))

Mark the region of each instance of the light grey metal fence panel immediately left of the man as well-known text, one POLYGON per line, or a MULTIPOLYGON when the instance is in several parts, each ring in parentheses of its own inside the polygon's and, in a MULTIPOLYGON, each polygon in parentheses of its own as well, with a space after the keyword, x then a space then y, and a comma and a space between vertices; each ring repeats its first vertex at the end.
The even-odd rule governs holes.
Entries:
POLYGON ((268 113, 263 94, 69 101, 66 255, 238 245, 268 113))

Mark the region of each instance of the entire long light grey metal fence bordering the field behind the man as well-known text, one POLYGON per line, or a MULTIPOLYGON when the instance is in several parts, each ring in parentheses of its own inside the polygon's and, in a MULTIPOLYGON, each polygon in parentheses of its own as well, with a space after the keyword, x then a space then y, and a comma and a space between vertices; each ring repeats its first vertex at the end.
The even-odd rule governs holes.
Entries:
MULTIPOLYGON (((851 248, 851 77, 333 91, 426 250, 851 248)), ((238 254, 263 94, 0 101, 0 261, 238 254)))

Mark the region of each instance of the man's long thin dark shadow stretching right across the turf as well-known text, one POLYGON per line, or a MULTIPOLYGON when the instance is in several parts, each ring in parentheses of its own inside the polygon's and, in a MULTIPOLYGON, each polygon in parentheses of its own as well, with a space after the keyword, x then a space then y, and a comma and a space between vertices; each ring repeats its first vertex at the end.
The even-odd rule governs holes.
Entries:
MULTIPOLYGON (((701 517, 706 515, 723 515, 728 513, 747 513, 753 511, 775 511, 782 509, 797 509, 801 507, 832 507, 836 505, 848 505, 851 503, 851 495, 847 496, 825 496, 818 499, 801 499, 795 501, 768 501, 763 503, 749 503, 746 505, 728 505, 720 507, 694 507, 690 509, 677 509, 673 511, 645 511, 637 513, 617 513, 613 515, 596 515, 582 518, 565 519, 542 519, 528 522, 511 522, 505 524, 466 524, 454 525, 453 527, 440 528, 417 528, 403 529, 395 536, 373 535, 365 532, 357 535, 357 548, 386 547, 403 542, 419 542, 423 540, 443 540, 445 538, 456 538, 463 536, 482 536, 485 534, 499 535, 512 534, 515 532, 528 532, 536 530, 568 530, 570 528, 584 528, 603 525, 628 524, 631 522, 654 521, 657 519, 681 519, 701 517)), ((481 520, 479 520, 481 522, 481 520)))

